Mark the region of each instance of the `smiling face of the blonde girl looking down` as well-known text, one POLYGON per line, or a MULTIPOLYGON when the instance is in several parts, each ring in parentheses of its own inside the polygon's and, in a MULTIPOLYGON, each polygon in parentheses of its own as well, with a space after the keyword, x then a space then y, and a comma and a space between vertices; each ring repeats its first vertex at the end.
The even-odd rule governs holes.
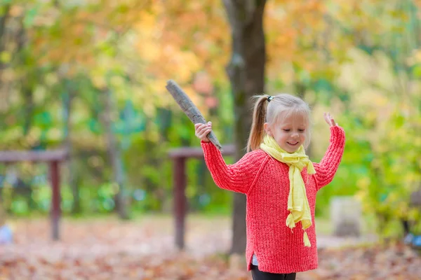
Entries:
POLYGON ((289 116, 279 116, 279 120, 269 125, 265 123, 266 133, 274 137, 276 143, 288 153, 294 153, 304 145, 306 130, 308 129, 307 118, 304 113, 291 113, 289 116))

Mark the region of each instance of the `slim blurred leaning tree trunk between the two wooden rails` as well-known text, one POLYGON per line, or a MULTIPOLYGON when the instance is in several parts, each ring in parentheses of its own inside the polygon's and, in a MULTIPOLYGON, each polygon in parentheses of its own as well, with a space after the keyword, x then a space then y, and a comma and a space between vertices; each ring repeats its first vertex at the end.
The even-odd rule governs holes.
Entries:
POLYGON ((112 102, 112 94, 109 89, 105 89, 102 92, 102 100, 104 106, 104 112, 102 113, 102 121, 105 125, 105 133, 107 138, 107 150, 109 154, 109 160, 112 164, 112 173, 114 176, 114 183, 118 188, 117 193, 114 197, 117 214, 122 219, 128 219, 128 211, 126 207, 126 201, 124 199, 124 174, 123 174, 123 162, 121 160, 121 151, 117 138, 112 132, 112 116, 114 116, 114 103, 112 102))

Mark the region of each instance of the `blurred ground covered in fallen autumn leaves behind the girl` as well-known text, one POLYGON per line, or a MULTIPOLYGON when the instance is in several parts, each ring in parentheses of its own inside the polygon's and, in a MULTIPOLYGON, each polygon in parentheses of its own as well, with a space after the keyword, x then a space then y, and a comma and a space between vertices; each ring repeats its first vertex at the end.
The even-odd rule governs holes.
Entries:
MULTIPOLYGON (((0 246, 1 280, 251 279, 242 258, 225 255, 231 235, 228 218, 189 218, 184 252, 173 246, 168 217, 65 219, 58 242, 50 241, 46 220, 13 225, 15 244, 0 246)), ((420 279, 421 258, 405 246, 340 248, 338 239, 320 240, 325 248, 319 250, 319 269, 298 274, 299 280, 420 279)))

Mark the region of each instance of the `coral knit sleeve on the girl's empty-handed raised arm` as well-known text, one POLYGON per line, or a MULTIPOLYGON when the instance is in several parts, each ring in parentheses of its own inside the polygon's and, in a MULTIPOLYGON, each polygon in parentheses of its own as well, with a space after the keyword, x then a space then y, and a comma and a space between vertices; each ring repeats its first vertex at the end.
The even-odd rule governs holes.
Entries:
POLYGON ((342 127, 330 127, 330 144, 328 151, 321 159, 320 163, 314 163, 316 169, 317 188, 326 186, 333 180, 336 170, 338 170, 340 160, 345 148, 345 131, 342 127))

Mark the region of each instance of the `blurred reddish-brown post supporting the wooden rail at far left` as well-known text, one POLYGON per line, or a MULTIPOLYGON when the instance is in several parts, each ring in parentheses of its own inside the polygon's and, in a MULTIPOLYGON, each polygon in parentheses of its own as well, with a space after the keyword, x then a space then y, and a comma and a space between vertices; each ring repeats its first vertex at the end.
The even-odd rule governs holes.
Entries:
POLYGON ((60 172, 58 161, 50 163, 50 178, 51 178, 51 225, 53 240, 60 239, 60 172))

